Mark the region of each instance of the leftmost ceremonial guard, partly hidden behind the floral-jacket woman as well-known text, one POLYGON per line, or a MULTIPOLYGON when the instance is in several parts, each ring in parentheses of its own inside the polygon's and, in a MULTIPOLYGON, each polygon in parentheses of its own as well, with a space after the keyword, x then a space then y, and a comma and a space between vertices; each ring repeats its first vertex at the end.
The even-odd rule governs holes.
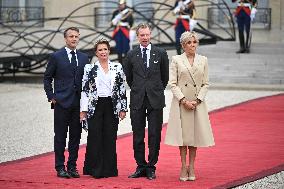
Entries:
POLYGON ((129 31, 133 25, 132 10, 127 7, 125 0, 119 1, 119 7, 112 14, 113 39, 115 40, 115 50, 118 54, 118 61, 122 63, 122 57, 129 51, 129 31))

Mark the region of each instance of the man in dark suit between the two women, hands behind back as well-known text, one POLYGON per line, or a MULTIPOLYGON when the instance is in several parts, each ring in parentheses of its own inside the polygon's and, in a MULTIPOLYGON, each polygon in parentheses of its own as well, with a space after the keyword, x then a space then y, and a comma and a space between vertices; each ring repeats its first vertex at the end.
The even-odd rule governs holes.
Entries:
POLYGON ((155 179, 155 164, 158 161, 164 90, 169 80, 169 59, 167 52, 150 43, 151 28, 141 23, 136 34, 140 45, 129 51, 123 67, 130 92, 130 117, 133 131, 134 157, 137 163, 135 173, 129 178, 147 177, 155 179), (148 121, 148 162, 145 160, 145 127, 148 121))

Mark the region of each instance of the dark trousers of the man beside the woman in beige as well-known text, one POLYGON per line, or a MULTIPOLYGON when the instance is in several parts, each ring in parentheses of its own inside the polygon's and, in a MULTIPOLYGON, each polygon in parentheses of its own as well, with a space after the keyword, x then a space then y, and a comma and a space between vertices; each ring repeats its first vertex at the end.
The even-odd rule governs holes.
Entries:
POLYGON ((163 109, 153 109, 147 96, 145 96, 140 109, 130 110, 130 117, 133 131, 134 158, 137 163, 137 169, 155 170, 160 150, 163 109), (146 118, 148 121, 148 162, 145 160, 144 142, 146 118))

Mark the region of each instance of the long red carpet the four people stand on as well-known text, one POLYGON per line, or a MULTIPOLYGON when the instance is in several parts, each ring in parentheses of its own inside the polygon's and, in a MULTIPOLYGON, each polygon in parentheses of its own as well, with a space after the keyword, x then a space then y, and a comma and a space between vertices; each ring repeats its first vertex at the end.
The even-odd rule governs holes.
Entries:
MULTIPOLYGON (((59 179, 53 153, 0 164, 0 188, 229 188, 284 170, 284 94, 210 113, 216 146, 200 148, 195 182, 178 181, 178 149, 161 145, 157 179, 128 179, 135 170, 132 135, 117 141, 116 178, 59 179)), ((163 129, 163 138, 165 135, 163 129)), ((79 154, 80 172, 85 146, 79 154)))

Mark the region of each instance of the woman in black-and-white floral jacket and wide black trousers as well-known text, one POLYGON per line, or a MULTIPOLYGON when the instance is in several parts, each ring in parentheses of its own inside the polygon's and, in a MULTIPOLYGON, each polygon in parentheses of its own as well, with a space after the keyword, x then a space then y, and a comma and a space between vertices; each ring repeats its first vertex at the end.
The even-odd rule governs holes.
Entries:
POLYGON ((120 63, 109 60, 110 45, 98 40, 98 61, 87 64, 82 79, 80 120, 88 123, 84 175, 95 178, 118 175, 116 139, 119 118, 127 111, 125 76, 120 63))

